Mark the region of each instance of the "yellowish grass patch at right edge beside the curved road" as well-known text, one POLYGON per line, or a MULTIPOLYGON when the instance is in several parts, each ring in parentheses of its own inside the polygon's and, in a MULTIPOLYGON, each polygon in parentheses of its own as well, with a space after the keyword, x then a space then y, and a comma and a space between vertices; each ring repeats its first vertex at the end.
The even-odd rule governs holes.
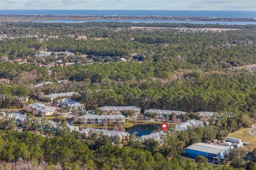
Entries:
POLYGON ((245 145, 249 150, 256 148, 256 137, 251 136, 247 131, 250 128, 244 128, 233 133, 229 133, 229 137, 242 139, 242 142, 248 142, 250 145, 245 145))

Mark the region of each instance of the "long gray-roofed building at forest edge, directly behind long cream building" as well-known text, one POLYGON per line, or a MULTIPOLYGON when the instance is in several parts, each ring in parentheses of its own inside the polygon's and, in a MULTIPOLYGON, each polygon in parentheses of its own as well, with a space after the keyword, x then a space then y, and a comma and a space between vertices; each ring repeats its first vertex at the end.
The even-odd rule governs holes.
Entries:
POLYGON ((103 114, 121 114, 122 111, 131 110, 135 112, 135 117, 140 115, 140 107, 136 106, 104 106, 99 108, 103 114))

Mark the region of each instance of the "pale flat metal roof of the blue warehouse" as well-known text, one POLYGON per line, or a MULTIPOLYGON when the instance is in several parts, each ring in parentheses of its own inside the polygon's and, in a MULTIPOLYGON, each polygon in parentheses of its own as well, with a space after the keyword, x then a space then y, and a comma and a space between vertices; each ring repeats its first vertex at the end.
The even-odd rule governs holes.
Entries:
POLYGON ((217 155, 223 150, 230 149, 230 147, 221 146, 221 145, 211 145, 211 144, 199 142, 199 143, 195 143, 195 144, 187 147, 187 149, 197 150, 197 151, 202 151, 202 152, 207 152, 207 153, 210 153, 210 154, 216 154, 217 155))

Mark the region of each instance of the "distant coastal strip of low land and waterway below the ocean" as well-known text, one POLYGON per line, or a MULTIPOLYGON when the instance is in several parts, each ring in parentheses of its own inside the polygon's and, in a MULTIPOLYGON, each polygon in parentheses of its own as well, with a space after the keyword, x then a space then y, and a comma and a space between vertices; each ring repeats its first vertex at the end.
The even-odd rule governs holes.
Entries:
MULTIPOLYGON (((127 15, 74 15, 74 14, 0 14, 0 22, 27 21, 138 21, 138 22, 254 22, 256 18, 223 18, 198 16, 127 16, 127 15)), ((249 23, 250 24, 250 23, 249 23)))

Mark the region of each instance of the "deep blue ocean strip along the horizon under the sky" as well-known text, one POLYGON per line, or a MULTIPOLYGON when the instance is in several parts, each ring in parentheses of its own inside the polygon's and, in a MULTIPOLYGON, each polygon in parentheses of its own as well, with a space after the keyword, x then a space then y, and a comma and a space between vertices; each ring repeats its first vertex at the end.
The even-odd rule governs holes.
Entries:
POLYGON ((0 10, 0 14, 56 14, 56 15, 127 15, 127 16, 201 16, 228 18, 256 18, 256 11, 187 11, 187 10, 0 10))

